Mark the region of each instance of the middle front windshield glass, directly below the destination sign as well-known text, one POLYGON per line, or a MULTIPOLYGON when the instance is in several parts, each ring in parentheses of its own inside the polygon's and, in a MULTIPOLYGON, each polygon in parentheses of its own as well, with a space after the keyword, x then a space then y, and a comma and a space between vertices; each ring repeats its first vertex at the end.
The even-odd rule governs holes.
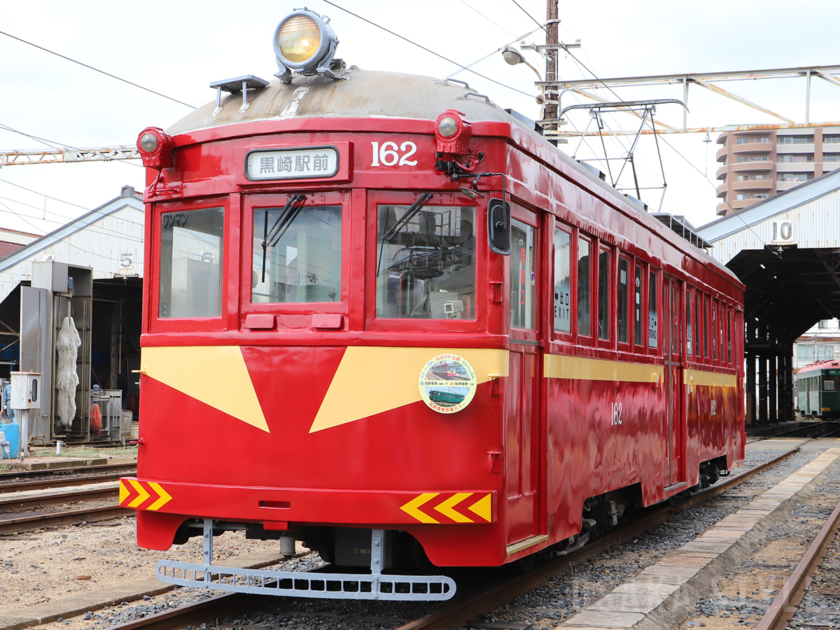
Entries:
POLYGON ((341 206, 298 207, 278 224, 282 211, 254 208, 251 301, 341 301, 341 206), (264 241, 275 225, 282 229, 264 241))

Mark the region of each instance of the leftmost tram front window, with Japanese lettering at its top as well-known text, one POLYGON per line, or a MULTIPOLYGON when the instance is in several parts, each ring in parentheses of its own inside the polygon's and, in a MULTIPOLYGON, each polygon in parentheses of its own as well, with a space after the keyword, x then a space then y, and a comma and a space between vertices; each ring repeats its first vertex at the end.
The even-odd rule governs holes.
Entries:
POLYGON ((222 314, 224 208, 160 215, 158 317, 222 314))

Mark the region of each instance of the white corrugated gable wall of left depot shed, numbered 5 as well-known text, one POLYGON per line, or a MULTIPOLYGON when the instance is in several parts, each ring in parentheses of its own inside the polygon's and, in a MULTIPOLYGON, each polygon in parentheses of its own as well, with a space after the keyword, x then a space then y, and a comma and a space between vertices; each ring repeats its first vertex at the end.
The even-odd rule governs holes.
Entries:
POLYGON ((145 217, 142 210, 130 205, 48 245, 31 257, 0 271, 0 301, 22 280, 29 280, 32 260, 54 260, 91 267, 93 277, 143 275, 143 236, 145 217))

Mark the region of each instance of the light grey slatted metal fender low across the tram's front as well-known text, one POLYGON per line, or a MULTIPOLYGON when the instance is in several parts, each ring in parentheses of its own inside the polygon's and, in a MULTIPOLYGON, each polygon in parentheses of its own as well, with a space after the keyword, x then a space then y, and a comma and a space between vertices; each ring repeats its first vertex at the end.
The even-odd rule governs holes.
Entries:
POLYGON ((457 588, 452 578, 442 575, 301 573, 169 560, 159 561, 156 570, 161 582, 179 586, 319 599, 443 601, 451 599, 457 588))

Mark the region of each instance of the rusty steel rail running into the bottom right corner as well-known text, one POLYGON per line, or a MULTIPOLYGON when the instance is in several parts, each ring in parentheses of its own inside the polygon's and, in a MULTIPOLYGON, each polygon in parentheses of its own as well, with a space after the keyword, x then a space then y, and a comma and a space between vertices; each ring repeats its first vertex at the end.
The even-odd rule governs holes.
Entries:
POLYGON ((817 534, 811 546, 808 547, 808 551, 805 552, 805 556, 785 582, 776 599, 770 604, 770 608, 764 613, 764 617, 756 626, 756 630, 781 630, 787 627, 788 622, 796 614, 796 610, 811 584, 814 573, 825 559, 838 529, 840 529, 840 503, 828 517, 820 533, 817 534))

